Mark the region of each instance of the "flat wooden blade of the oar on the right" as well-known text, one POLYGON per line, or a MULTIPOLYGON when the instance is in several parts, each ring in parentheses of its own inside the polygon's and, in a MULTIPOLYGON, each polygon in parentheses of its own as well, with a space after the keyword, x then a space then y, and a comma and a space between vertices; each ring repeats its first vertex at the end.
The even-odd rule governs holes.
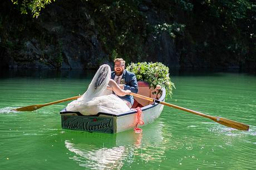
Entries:
POLYGON ((247 124, 239 123, 239 122, 232 121, 230 119, 226 119, 222 117, 214 117, 213 121, 223 124, 224 126, 228 126, 234 129, 239 129, 242 131, 249 131, 249 127, 250 127, 247 124))

